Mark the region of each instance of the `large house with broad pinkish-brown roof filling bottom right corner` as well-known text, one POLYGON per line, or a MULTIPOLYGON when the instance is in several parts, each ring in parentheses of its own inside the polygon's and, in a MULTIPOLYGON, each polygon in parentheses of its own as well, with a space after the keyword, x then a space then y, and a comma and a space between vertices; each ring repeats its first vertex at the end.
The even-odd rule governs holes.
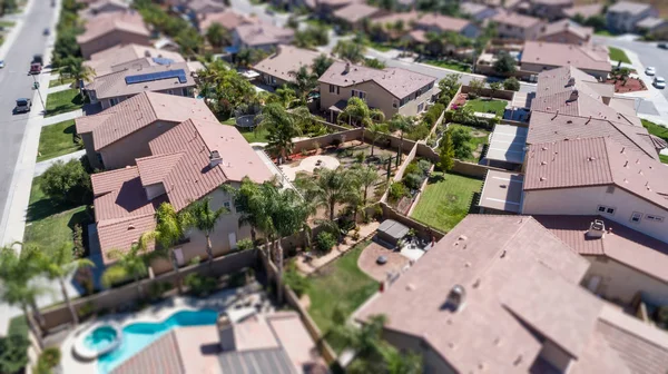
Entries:
POLYGON ((386 316, 425 373, 668 367, 668 335, 580 286, 589 267, 534 218, 469 215, 354 318, 386 316))

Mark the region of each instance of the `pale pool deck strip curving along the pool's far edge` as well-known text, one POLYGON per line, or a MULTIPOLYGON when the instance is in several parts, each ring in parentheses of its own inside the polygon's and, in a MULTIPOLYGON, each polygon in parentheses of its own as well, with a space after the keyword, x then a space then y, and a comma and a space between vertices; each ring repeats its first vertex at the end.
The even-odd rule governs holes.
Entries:
POLYGON ((60 346, 60 351, 62 352, 60 362, 61 367, 63 373, 98 373, 97 360, 82 362, 75 357, 72 350, 79 334, 87 331, 96 323, 115 322, 122 328, 128 324, 138 322, 160 323, 179 311, 215 309, 224 312, 230 308, 254 305, 258 302, 263 304, 262 313, 271 313, 274 311, 263 292, 259 291, 258 285, 252 284, 242 288, 220 291, 207 298, 175 296, 136 313, 109 314, 102 317, 92 318, 80 324, 77 329, 72 331, 62 342, 62 345, 60 346))

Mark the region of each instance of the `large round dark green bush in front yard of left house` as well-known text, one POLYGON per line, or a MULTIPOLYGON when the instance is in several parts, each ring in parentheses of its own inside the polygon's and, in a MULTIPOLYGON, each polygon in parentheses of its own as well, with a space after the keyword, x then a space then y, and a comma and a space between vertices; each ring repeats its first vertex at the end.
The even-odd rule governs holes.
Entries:
POLYGON ((49 198, 61 204, 81 205, 92 201, 90 175, 79 160, 55 163, 42 175, 41 189, 49 198))

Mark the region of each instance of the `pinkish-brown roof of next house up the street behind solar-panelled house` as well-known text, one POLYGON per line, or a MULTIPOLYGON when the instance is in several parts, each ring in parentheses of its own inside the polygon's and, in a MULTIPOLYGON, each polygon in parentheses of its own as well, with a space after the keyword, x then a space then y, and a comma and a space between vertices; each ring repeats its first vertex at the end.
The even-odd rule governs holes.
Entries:
POLYGON ((150 32, 144 26, 141 16, 134 11, 102 13, 86 22, 86 31, 77 37, 78 43, 86 43, 109 32, 122 30, 148 37, 150 32))

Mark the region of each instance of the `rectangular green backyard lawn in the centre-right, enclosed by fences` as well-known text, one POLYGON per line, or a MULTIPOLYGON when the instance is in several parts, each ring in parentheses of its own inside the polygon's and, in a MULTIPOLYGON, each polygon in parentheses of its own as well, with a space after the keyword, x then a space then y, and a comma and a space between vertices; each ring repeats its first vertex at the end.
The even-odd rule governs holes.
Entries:
POLYGON ((433 173, 411 217, 448 233, 464 219, 481 187, 480 179, 433 173))

